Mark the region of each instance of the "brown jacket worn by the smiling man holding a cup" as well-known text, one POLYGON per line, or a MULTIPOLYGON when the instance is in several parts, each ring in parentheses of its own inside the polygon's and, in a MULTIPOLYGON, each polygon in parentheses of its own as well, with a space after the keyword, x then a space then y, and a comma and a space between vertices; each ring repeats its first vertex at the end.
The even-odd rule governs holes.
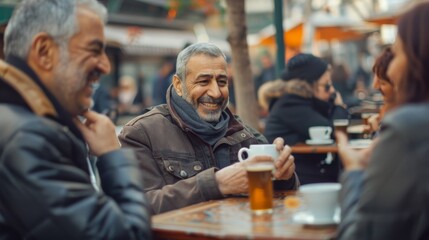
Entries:
MULTIPOLYGON (((267 143, 262 134, 226 111, 230 114, 228 131, 213 147, 187 128, 171 109, 169 95, 167 104, 154 107, 124 126, 119 140, 123 147, 137 150, 153 213, 225 197, 215 179, 216 148, 229 148, 232 164, 238 161, 240 148, 267 143)), ((298 184, 294 178, 279 182, 284 189, 296 188, 298 184)))

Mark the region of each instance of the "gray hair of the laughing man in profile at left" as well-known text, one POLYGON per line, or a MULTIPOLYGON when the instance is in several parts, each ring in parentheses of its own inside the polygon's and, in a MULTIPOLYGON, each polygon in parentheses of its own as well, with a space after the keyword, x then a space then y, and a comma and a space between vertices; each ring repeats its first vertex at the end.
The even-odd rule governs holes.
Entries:
POLYGON ((33 37, 49 34, 61 48, 79 31, 77 7, 89 9, 107 21, 106 8, 96 0, 23 0, 15 9, 4 36, 5 56, 26 59, 33 37))

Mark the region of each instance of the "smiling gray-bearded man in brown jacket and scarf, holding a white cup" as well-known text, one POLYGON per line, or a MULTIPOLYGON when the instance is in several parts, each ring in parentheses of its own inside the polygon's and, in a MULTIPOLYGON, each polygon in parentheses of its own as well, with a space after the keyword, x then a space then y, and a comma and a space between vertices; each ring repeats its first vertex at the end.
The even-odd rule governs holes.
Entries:
MULTIPOLYGON (((238 151, 266 138, 228 109, 225 55, 211 43, 196 43, 177 57, 167 104, 155 106, 126 124, 119 135, 132 147, 143 170, 153 213, 246 193, 247 176, 238 151)), ((296 189, 291 149, 274 140, 279 189, 296 189)))

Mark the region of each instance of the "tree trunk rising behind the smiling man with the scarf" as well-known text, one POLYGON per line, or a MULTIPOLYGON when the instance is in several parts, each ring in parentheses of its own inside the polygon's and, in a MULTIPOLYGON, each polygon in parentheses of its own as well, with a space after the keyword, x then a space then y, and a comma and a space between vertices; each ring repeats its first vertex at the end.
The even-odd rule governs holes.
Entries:
POLYGON ((234 70, 236 113, 247 125, 259 129, 259 108, 250 68, 244 0, 226 0, 226 4, 228 42, 231 46, 234 70))

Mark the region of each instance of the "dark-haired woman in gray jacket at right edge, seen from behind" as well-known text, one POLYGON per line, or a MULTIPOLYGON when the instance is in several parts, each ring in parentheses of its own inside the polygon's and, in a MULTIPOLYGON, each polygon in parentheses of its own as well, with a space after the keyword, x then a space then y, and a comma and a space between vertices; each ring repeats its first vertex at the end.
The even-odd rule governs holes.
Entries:
POLYGON ((399 19, 387 70, 398 107, 383 119, 369 157, 336 134, 346 170, 338 239, 429 239, 428 21, 429 2, 399 19))

